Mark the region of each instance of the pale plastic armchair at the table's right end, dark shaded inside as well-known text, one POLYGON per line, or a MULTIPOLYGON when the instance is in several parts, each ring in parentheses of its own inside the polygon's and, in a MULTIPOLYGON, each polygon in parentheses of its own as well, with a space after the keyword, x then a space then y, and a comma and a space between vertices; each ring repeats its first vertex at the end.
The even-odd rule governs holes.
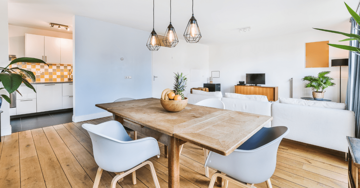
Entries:
POLYGON ((263 127, 228 156, 210 151, 204 166, 218 172, 212 176, 209 188, 213 188, 217 177, 225 179, 225 188, 229 181, 244 188, 266 181, 272 188, 270 177, 275 171, 276 153, 288 133, 284 126, 263 127))

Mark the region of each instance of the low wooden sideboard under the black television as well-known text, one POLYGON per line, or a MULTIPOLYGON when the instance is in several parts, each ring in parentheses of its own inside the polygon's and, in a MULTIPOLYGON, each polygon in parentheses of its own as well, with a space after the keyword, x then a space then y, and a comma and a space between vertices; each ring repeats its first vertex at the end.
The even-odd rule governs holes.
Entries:
POLYGON ((265 95, 269 101, 277 101, 277 86, 235 86, 235 93, 243 95, 265 95))

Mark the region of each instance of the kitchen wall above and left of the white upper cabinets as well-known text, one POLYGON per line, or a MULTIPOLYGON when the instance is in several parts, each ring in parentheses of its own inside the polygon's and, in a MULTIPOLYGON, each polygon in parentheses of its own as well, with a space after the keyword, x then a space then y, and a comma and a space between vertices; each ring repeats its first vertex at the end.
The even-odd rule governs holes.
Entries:
POLYGON ((72 33, 57 32, 55 29, 56 28, 54 28, 54 31, 47 31, 42 29, 9 25, 9 54, 16 55, 17 58, 25 57, 26 33, 33 35, 72 39, 72 33))

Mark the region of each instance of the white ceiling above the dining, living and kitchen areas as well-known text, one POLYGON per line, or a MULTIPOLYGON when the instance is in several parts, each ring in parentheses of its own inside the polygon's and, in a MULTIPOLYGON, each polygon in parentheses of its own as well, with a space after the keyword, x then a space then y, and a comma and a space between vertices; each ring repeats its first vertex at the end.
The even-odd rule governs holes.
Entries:
MULTIPOLYGON (((359 0, 345 1, 356 10, 359 0)), ((191 6, 191 0, 171 1, 179 38, 191 6)), ((9 24, 72 32, 72 17, 80 15, 151 32, 152 9, 152 0, 9 0, 9 24), (68 25, 70 31, 50 28, 50 22, 68 25)), ((326 28, 350 18, 343 0, 194 0, 194 16, 203 36, 200 43, 206 45, 326 28), (250 32, 238 32, 247 26, 250 32)), ((155 31, 163 35, 169 22, 170 1, 155 0, 155 31)))

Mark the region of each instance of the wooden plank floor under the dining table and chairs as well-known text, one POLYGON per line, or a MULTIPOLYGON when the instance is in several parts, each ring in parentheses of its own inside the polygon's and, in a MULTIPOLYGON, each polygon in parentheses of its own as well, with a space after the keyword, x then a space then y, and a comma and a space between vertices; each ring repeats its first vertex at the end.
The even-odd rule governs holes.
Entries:
MULTIPOLYGON (((0 187, 6 188, 91 188, 98 166, 93 157, 89 134, 83 123, 99 124, 112 116, 79 123, 67 123, 26 130, 1 137, 0 187)), ((138 135, 138 138, 144 136, 138 135)), ((159 144, 161 157, 152 157, 159 183, 167 188, 167 159, 159 144)), ((207 188, 204 176, 204 153, 185 143, 180 157, 180 185, 184 188, 207 188)), ((209 169, 210 177, 215 170, 209 169)), ((110 187, 114 173, 104 171, 99 187, 110 187)), ((148 166, 136 170, 137 184, 131 175, 117 184, 118 188, 154 188, 148 166)), ((347 188, 347 162, 342 153, 283 139, 277 164, 271 177, 274 188, 347 188)), ((266 184, 255 184, 266 188, 266 184)), ((229 184, 229 188, 237 187, 229 184)))

